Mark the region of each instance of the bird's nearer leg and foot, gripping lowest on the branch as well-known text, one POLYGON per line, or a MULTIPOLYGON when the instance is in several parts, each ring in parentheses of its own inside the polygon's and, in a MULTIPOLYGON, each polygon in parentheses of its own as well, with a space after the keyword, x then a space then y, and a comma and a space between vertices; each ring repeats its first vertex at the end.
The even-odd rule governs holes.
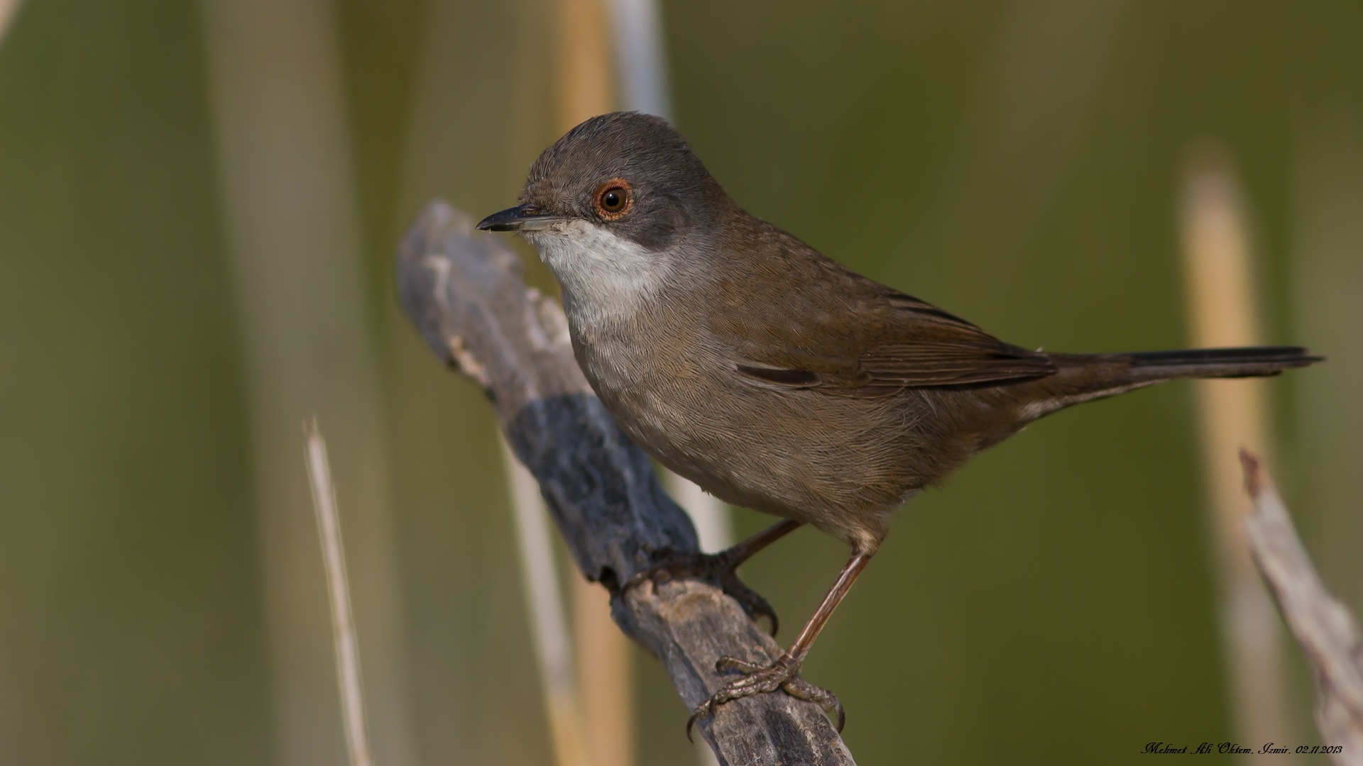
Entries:
POLYGON ((754 665, 752 662, 744 662, 733 657, 721 657, 718 662, 714 664, 714 669, 718 672, 725 671, 740 671, 743 677, 729 681, 720 691, 714 692, 710 699, 706 699, 691 711, 691 717, 686 722, 686 736, 691 737, 691 725, 695 724, 696 718, 706 718, 714 714, 714 709, 725 702, 733 699, 741 699, 744 696, 751 696, 754 694, 771 692, 777 690, 785 690, 786 694, 797 696, 800 699, 808 699, 810 702, 819 703, 825 713, 830 718, 837 718, 838 732, 842 731, 842 724, 846 721, 846 713, 842 710, 842 703, 838 698, 833 695, 831 691, 819 688, 810 681, 800 677, 800 664, 804 662, 806 654, 810 653, 810 646, 814 645, 814 639, 819 637, 819 631, 833 616, 833 609, 838 608, 842 598, 852 590, 852 583, 856 582, 857 575, 870 563, 871 553, 867 552, 853 552, 852 557, 838 572, 838 579, 829 589, 829 594, 823 597, 823 602, 819 608, 814 611, 814 616, 810 622, 804 623, 804 630, 786 649, 784 654, 777 657, 774 662, 766 667, 754 665))

